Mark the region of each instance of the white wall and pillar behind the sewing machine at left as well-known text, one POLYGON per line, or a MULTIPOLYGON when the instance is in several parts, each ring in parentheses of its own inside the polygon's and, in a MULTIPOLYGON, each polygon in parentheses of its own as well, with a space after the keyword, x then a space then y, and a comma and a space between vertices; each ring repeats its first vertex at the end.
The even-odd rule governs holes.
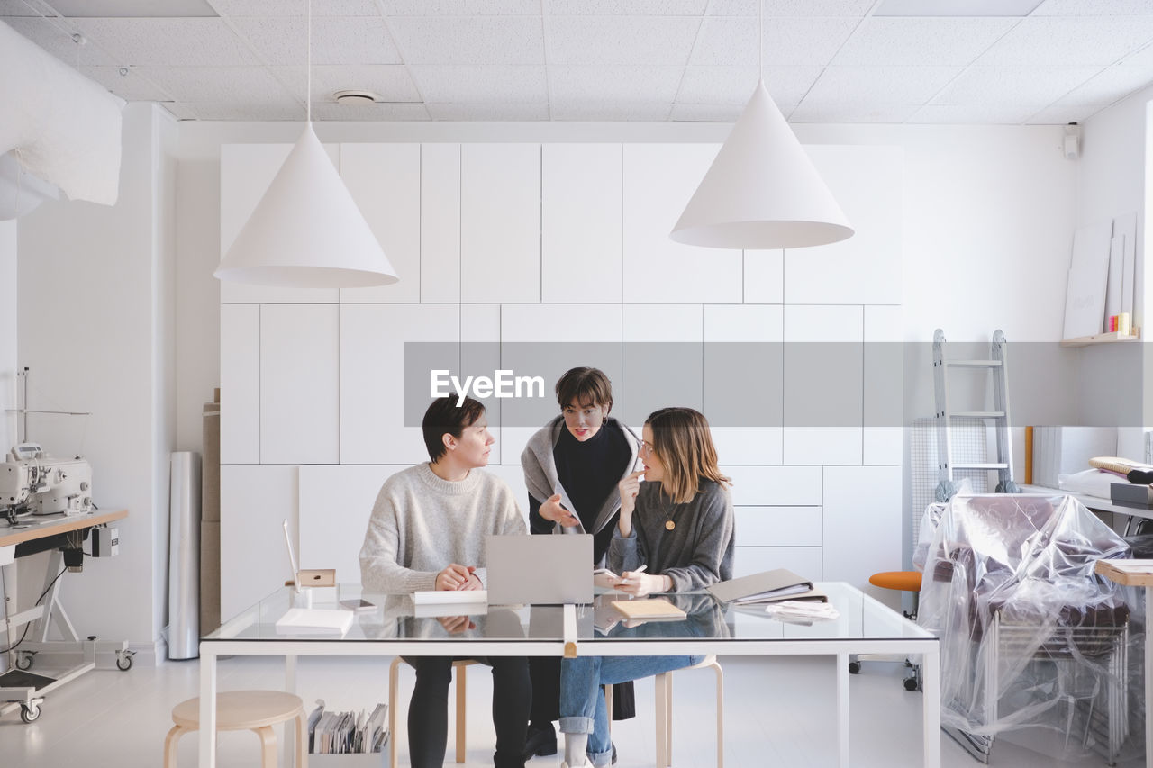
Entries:
POLYGON ((159 637, 166 592, 174 134, 163 110, 129 104, 116 205, 47 202, 18 232, 18 309, 36 316, 18 324, 30 405, 92 414, 31 415, 29 435, 88 457, 96 503, 129 511, 119 557, 86 558, 62 601, 81 635, 138 648, 159 637))

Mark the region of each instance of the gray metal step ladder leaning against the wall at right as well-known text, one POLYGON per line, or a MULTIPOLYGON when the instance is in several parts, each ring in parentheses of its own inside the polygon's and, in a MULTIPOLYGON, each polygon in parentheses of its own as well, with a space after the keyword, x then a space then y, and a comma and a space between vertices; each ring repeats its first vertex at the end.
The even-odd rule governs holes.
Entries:
POLYGON ((949 360, 945 354, 944 331, 933 333, 933 389, 936 411, 933 414, 937 432, 937 485, 936 500, 948 502, 957 492, 954 472, 962 469, 996 470, 998 494, 1019 494, 1020 488, 1012 480, 1012 450, 1009 445, 1009 371, 1005 356, 1005 334, 1000 329, 993 332, 988 360, 949 360), (955 369, 984 369, 993 376, 993 411, 954 411, 950 400, 949 378, 955 369), (981 419, 992 423, 996 434, 996 461, 980 464, 955 464, 952 460, 952 420, 981 419))

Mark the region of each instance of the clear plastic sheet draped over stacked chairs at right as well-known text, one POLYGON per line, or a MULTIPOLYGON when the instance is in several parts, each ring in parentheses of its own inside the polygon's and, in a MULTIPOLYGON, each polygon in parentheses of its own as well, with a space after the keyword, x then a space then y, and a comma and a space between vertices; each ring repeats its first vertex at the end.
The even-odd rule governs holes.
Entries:
POLYGON ((1128 543, 1068 496, 930 506, 918 623, 941 638, 942 725, 986 744, 1052 729, 1063 755, 1139 750, 1143 596, 1093 570, 1128 543))

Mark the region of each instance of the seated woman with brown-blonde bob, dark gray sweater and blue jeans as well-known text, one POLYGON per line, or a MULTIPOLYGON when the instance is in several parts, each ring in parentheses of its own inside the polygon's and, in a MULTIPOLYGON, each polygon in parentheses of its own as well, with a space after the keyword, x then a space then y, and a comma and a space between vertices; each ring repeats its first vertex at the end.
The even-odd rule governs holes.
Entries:
MULTIPOLYGON (((704 416, 662 408, 645 422, 645 468, 620 481, 620 517, 606 565, 617 589, 635 596, 688 592, 732 578, 733 510, 704 416), (641 482, 641 475, 645 482, 641 482), (640 572, 641 566, 646 572, 640 572)), ((597 768, 612 758, 602 685, 635 680, 701 656, 581 656, 560 664, 560 730, 566 768, 597 768)))

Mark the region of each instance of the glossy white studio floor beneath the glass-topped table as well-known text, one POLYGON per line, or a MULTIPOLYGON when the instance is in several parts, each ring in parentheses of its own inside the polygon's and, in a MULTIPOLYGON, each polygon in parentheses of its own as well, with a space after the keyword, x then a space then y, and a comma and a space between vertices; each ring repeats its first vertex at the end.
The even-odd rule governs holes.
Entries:
MULTIPOLYGON (((330 708, 360 708, 387 700, 389 660, 302 658, 300 693, 307 705, 323 698, 330 708)), ((725 670, 725 766, 835 766, 835 668, 828 658, 748 660, 723 658, 725 670)), ((36 669, 33 671, 43 671, 36 669)), ((169 713, 176 702, 196 695, 196 661, 168 662, 158 668, 136 667, 127 672, 97 670, 51 694, 43 715, 32 724, 18 713, 0 717, 0 766, 71 768, 118 766, 158 768, 169 713)), ((913 768, 921 765, 920 693, 900 685, 902 669, 894 664, 868 664, 850 679, 852 765, 854 767, 913 768)), ((675 676, 673 765, 678 768, 716 765, 714 740, 714 678, 710 670, 675 676)), ((468 676, 467 765, 491 766, 492 725, 489 718, 490 676, 473 667, 468 676)), ((412 677, 401 682, 407 699, 412 677)), ((284 667, 269 658, 226 658, 220 662, 221 690, 284 686, 284 667)), ((636 718, 615 724, 618 768, 654 765, 653 686, 638 683, 636 718)), ((401 705, 400 722, 404 722, 401 705)), ((450 715, 451 717, 451 715, 450 715)), ((402 728, 402 726, 401 726, 402 728)), ((449 761, 452 766, 450 724, 449 761)), ((945 768, 978 768, 972 758, 942 736, 945 768)), ((400 737, 401 763, 406 765, 405 737, 400 737)), ((196 739, 184 737, 180 765, 196 765, 196 739)), ((220 736, 221 767, 258 765, 258 744, 249 732, 220 736)), ((281 763, 284 765, 284 762, 281 763)), ((321 766, 361 768, 379 765, 375 759, 327 758, 321 766)), ((555 768, 556 758, 536 758, 530 768, 555 768)), ((1103 760, 1061 762, 998 739, 990 765, 1012 768, 1102 766, 1103 760)), ((1137 768, 1140 760, 1122 763, 1137 768)))

